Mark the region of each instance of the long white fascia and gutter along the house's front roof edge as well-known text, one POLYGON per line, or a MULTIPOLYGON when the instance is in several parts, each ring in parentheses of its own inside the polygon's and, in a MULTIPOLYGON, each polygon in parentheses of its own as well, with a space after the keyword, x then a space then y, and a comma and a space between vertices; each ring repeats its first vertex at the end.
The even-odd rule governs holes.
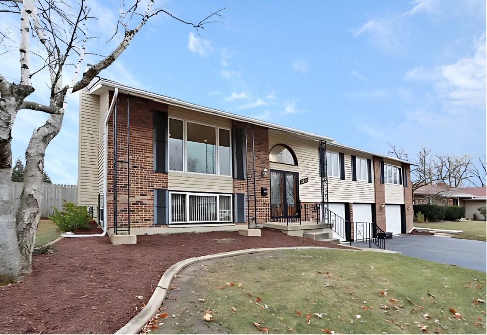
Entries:
POLYGON ((257 120, 257 119, 254 119, 254 118, 246 117, 246 116, 241 116, 241 115, 237 115, 237 114, 233 114, 233 113, 228 113, 228 112, 220 111, 220 110, 213 109, 213 108, 208 108, 208 107, 204 107, 204 106, 200 106, 200 105, 196 105, 196 104, 184 102, 184 101, 179 100, 179 99, 175 99, 175 98, 171 98, 171 97, 168 97, 168 96, 164 96, 164 95, 160 95, 160 94, 156 94, 156 93, 151 93, 151 92, 144 91, 144 90, 141 90, 141 89, 137 89, 137 88, 129 87, 129 86, 126 86, 126 85, 122 85, 120 83, 117 83, 117 82, 114 82, 114 81, 111 81, 111 80, 108 80, 108 79, 100 79, 100 80, 98 80, 97 82, 93 83, 93 85, 91 85, 88 88, 88 91, 90 92, 90 94, 100 94, 104 89, 107 89, 107 88, 113 88, 113 89, 118 88, 120 93, 132 94, 134 96, 139 96, 139 97, 143 97, 143 98, 152 99, 154 101, 161 102, 161 103, 164 103, 164 104, 168 104, 168 105, 172 105, 172 106, 178 106, 178 107, 182 107, 182 108, 188 108, 188 109, 192 109, 194 111, 203 112, 203 113, 207 113, 207 114, 219 115, 219 116, 226 117, 226 118, 229 118, 229 119, 232 119, 232 120, 241 121, 241 122, 248 122, 248 123, 251 123, 251 124, 260 125, 260 126, 267 127, 267 128, 270 128, 270 129, 282 130, 282 131, 294 133, 294 134, 297 134, 297 135, 301 135, 301 136, 304 136, 304 137, 307 137, 307 138, 310 138, 310 139, 316 140, 316 141, 323 140, 323 141, 327 141, 327 143, 329 143, 331 145, 334 145, 334 146, 337 146, 337 147, 341 147, 341 148, 344 148, 344 149, 349 149, 349 150, 361 152, 361 153, 368 154, 368 155, 372 155, 372 156, 377 156, 377 157, 381 157, 381 158, 387 158, 387 159, 395 160, 395 161, 398 161, 398 162, 401 162, 401 163, 405 163, 405 164, 409 164, 409 165, 414 165, 414 164, 412 164, 411 162, 409 162, 407 160, 402 160, 402 159, 398 159, 398 158, 394 158, 394 157, 389 157, 389 156, 377 154, 377 153, 374 153, 374 152, 371 152, 371 151, 361 150, 361 149, 357 149, 357 148, 354 148, 354 147, 351 147, 351 146, 347 146, 347 145, 344 145, 344 144, 340 144, 338 142, 335 142, 330 137, 326 137, 326 136, 318 135, 318 134, 315 134, 315 133, 312 133, 312 132, 298 130, 298 129, 294 129, 294 128, 282 126, 282 125, 279 125, 279 124, 275 124, 275 123, 265 122, 265 121, 257 120))

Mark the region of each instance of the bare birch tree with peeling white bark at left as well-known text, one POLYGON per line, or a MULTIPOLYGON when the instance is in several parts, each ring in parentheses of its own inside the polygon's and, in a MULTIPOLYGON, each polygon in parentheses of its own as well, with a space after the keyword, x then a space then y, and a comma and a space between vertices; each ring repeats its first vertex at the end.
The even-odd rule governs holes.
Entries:
MULTIPOLYGON (((173 15, 165 7, 153 8, 154 0, 134 0, 125 6, 121 3, 117 28, 110 40, 121 37, 108 56, 101 56, 94 65, 89 65, 77 80, 87 53, 87 43, 95 38, 90 35, 89 25, 96 20, 84 0, 12 0, 0 1, 2 15, 17 15, 20 24, 18 39, 9 36, 9 31, 0 32, 0 45, 5 52, 20 54, 20 81, 9 82, 0 74, 0 285, 17 282, 31 271, 32 252, 40 219, 39 205, 42 201, 44 155, 51 140, 59 133, 67 107, 66 97, 85 88, 102 70, 108 68, 124 52, 135 35, 155 15, 161 14, 187 24, 196 30, 205 25, 220 22, 220 9, 198 23, 185 21, 173 15), (143 8, 141 8, 143 7, 143 8), (31 56, 42 60, 34 70, 31 56), (49 104, 29 101, 34 92, 31 78, 48 71, 50 82, 49 104), (69 84, 62 81, 70 71, 69 84), (49 114, 44 125, 34 130, 25 154, 24 188, 21 204, 16 215, 12 211, 10 183, 12 174, 11 132, 17 112, 30 109, 49 114), (15 215, 15 217, 14 217, 15 215)), ((115 10, 115 9, 114 9, 115 10)), ((98 46, 94 46, 99 49, 98 46)), ((4 52, 4 53, 5 53, 4 52)), ((3 54, 3 53, 0 53, 3 54)), ((13 64, 12 64, 13 66, 13 64)))

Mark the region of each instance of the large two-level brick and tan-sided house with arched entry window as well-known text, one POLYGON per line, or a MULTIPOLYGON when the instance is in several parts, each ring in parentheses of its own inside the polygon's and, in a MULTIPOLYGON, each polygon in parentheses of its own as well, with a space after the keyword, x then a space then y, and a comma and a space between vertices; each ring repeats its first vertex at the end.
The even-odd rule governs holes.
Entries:
POLYGON ((413 227, 409 162, 314 133, 99 79, 80 92, 79 136, 78 201, 110 233, 287 225, 323 206, 394 234, 413 227))

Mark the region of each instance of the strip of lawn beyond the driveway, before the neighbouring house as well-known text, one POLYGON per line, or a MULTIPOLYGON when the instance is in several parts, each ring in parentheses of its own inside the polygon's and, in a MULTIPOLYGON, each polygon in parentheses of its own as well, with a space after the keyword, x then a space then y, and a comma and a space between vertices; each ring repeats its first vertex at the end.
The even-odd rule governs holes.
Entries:
POLYGON ((468 240, 487 240, 487 222, 485 221, 442 221, 442 222, 415 222, 416 228, 463 230, 455 238, 468 240))

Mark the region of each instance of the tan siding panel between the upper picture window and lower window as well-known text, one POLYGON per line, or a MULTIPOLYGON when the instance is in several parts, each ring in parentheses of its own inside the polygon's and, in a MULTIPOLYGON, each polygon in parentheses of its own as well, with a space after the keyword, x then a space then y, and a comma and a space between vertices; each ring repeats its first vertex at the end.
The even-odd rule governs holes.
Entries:
POLYGON ((169 171, 170 191, 233 193, 233 179, 199 173, 169 171))

